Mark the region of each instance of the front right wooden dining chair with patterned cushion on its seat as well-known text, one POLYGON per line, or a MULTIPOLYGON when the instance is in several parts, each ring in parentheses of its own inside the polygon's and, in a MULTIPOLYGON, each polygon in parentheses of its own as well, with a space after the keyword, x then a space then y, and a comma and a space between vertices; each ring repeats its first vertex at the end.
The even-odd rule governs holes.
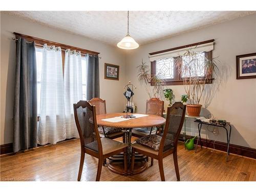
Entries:
POLYGON ((134 170, 135 152, 158 160, 161 181, 165 181, 163 171, 163 158, 173 154, 174 166, 177 180, 180 181, 177 145, 178 138, 182 129, 185 118, 186 105, 181 102, 175 102, 167 108, 166 123, 163 131, 163 136, 148 135, 141 137, 132 144, 132 170, 134 170))

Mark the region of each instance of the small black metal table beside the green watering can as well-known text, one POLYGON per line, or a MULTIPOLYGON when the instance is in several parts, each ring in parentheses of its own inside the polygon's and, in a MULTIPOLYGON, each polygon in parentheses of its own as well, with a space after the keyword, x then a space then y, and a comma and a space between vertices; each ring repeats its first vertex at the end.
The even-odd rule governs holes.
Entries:
MULTIPOLYGON (((231 125, 230 125, 230 123, 226 122, 226 124, 224 125, 224 124, 218 123, 218 121, 208 123, 208 122, 203 122, 201 120, 195 120, 194 122, 198 123, 198 132, 199 132, 199 139, 198 140, 200 140, 201 148, 202 148, 201 129, 202 129, 203 124, 210 125, 210 126, 223 127, 226 130, 226 133, 227 133, 227 156, 226 156, 226 161, 227 161, 228 156, 229 156, 229 143, 230 143, 230 134, 231 134, 231 125), (228 133, 227 127, 229 127, 229 133, 228 133)), ((196 151, 195 152, 197 152, 198 140, 197 140, 197 145, 196 145, 196 151)))

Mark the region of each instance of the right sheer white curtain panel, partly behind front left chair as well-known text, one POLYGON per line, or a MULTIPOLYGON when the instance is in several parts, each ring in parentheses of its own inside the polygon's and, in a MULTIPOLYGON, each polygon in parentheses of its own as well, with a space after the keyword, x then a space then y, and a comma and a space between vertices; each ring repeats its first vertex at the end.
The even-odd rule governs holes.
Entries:
POLYGON ((66 50, 64 65, 64 103, 66 119, 66 137, 79 137, 74 119, 73 103, 82 100, 81 53, 66 50))

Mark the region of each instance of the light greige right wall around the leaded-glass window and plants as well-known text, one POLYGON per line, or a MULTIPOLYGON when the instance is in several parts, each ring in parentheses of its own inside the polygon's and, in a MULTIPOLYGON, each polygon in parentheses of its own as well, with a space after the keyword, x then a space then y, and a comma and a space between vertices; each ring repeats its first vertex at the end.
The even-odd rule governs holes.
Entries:
MULTIPOLYGON (((140 46, 138 49, 126 52, 126 77, 138 89, 134 101, 138 112, 145 111, 148 99, 145 90, 137 80, 136 66, 141 58, 147 61, 148 53, 174 48, 194 42, 215 39, 213 57, 219 56, 220 72, 213 84, 207 85, 204 100, 201 102, 203 114, 214 114, 218 119, 226 119, 232 123, 231 143, 256 148, 256 79, 236 79, 236 55, 256 52, 256 14, 231 20, 204 29, 183 33, 167 39, 140 46), (211 91, 210 91, 211 88, 211 91), (208 100, 206 99, 208 98, 208 100)), ((170 86, 174 90, 176 101, 184 94, 183 86, 170 86)), ((165 102, 165 109, 167 105, 165 102)), ((186 121, 188 135, 197 135, 197 126, 186 121)), ((209 127, 211 129, 211 127, 209 127)), ((226 133, 221 130, 215 137, 202 129, 202 137, 226 142, 226 133)))

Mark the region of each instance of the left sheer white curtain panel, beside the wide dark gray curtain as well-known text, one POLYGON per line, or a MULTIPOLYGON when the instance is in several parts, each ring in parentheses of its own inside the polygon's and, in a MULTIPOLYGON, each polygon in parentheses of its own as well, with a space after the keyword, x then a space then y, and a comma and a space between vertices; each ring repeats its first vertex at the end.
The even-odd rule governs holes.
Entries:
POLYGON ((41 102, 38 143, 41 145, 66 139, 61 48, 42 50, 41 102))

